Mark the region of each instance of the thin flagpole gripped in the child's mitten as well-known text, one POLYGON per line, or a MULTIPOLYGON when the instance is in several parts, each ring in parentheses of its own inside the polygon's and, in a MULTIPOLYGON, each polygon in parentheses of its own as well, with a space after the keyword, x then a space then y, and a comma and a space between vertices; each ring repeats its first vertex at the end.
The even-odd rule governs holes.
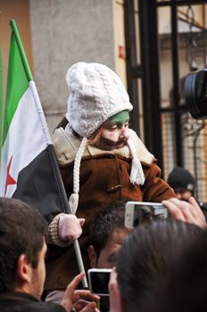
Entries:
MULTIPOLYGON (((24 70, 26 72, 27 78, 29 80, 29 86, 30 86, 31 92, 32 92, 32 94, 34 96, 34 99, 35 99, 35 103, 36 103, 36 106, 37 106, 37 112, 38 112, 38 116, 39 116, 39 119, 40 119, 40 123, 42 125, 43 132, 44 132, 45 137, 46 137, 46 143, 48 144, 47 148, 48 148, 50 160, 51 160, 51 163, 52 163, 52 166, 53 166, 53 169, 54 169, 54 175, 55 175, 56 180, 57 180, 57 185, 59 187, 59 193, 60 193, 60 196, 62 198, 62 206, 63 206, 63 208, 65 210, 65 213, 71 213, 69 202, 68 202, 68 198, 67 198, 67 194, 65 192, 65 188, 64 188, 64 185, 63 185, 63 182, 62 182, 60 169, 59 169, 59 166, 58 166, 58 163, 57 163, 57 159, 56 159, 56 155, 55 155, 55 152, 54 152, 54 146, 52 144, 51 137, 50 137, 47 125, 46 125, 46 118, 45 118, 44 112, 42 110, 42 105, 40 103, 40 99, 39 99, 39 96, 37 94, 37 87, 36 87, 35 82, 33 80, 31 71, 29 69, 29 62, 28 62, 27 56, 26 56, 26 54, 24 52, 23 45, 21 44, 21 37, 20 37, 19 31, 17 29, 16 22, 14 20, 11 20, 10 24, 11 24, 12 31, 13 31, 13 34, 15 36, 17 45, 19 47, 19 51, 20 51, 20 54, 21 54, 21 61, 22 61, 22 64, 24 66, 24 70)), ((76 258, 77 258, 77 261, 78 261, 79 272, 85 272, 85 268, 84 268, 84 265, 83 265, 83 259, 82 259, 82 255, 81 255, 80 248, 79 248, 79 241, 75 240, 73 242, 73 246, 74 246, 74 250, 75 250, 75 253, 76 253, 76 258)), ((88 288, 86 275, 84 276, 84 278, 82 280, 82 284, 83 284, 84 288, 88 288)))

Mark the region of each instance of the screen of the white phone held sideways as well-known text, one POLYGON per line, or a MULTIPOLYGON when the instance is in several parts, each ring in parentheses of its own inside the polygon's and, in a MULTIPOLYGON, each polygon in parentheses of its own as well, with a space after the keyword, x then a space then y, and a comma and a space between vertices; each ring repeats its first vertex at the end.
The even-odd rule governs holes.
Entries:
POLYGON ((167 209, 161 205, 136 205, 134 213, 134 227, 143 222, 151 223, 155 218, 167 218, 167 209))

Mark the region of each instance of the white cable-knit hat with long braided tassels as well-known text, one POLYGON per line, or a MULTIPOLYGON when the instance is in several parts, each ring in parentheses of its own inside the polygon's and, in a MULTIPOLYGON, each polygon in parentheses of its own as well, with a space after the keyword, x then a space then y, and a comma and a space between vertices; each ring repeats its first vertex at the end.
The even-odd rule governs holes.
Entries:
MULTIPOLYGON (((78 62, 70 67, 66 75, 70 90, 66 119, 70 127, 83 140, 77 152, 73 168, 73 193, 70 195, 70 209, 76 213, 79 203, 79 167, 82 154, 87 145, 87 138, 103 125, 104 121, 120 111, 131 111, 128 93, 114 71, 99 63, 78 62)), ((133 156, 130 181, 144 184, 145 176, 137 152, 130 140, 128 147, 133 156)))

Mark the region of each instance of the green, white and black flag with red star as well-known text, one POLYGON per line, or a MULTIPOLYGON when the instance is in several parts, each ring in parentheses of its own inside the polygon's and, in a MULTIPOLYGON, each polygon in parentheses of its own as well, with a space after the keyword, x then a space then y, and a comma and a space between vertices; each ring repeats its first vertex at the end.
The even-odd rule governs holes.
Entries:
POLYGON ((26 201, 50 220, 66 212, 68 202, 62 198, 54 147, 15 21, 11 26, 5 111, 0 110, 4 119, 0 196, 26 201))

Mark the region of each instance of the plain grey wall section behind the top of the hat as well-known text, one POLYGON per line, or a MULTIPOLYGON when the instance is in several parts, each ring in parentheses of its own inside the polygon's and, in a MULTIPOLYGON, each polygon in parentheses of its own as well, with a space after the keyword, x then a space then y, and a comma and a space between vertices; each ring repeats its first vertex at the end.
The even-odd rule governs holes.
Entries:
POLYGON ((112 0, 30 0, 34 76, 52 129, 66 111, 65 75, 75 62, 115 68, 112 0))

